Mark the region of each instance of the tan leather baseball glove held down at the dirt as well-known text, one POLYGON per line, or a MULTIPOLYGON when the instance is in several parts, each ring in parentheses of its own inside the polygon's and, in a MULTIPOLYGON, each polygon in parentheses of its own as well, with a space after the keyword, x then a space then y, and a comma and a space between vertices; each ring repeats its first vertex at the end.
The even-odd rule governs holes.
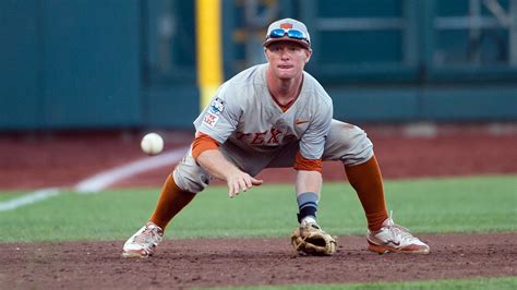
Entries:
POLYGON ((296 254, 329 256, 336 252, 335 238, 316 223, 301 225, 292 231, 291 244, 296 254))

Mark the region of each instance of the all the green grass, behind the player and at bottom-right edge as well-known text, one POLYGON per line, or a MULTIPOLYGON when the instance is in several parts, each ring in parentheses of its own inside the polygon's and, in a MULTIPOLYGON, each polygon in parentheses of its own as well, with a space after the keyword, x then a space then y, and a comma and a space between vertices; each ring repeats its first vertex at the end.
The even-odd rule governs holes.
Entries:
MULTIPOLYGON (((394 219, 412 232, 517 229, 517 176, 386 181, 385 189, 394 219)), ((209 188, 175 219, 166 238, 288 237, 297 225, 293 191, 287 184, 263 185, 228 198, 226 188, 209 188)), ((95 194, 63 192, 39 203, 0 212, 0 242, 125 240, 147 220, 158 192, 158 188, 95 194)), ((23 194, 26 193, 0 194, 0 203, 23 194)), ((364 215, 348 183, 325 183, 318 221, 333 234, 364 234, 364 215)), ((472 283, 478 289, 510 289, 517 287, 517 279, 444 280, 389 287, 470 289, 472 283)), ((347 287, 383 286, 387 283, 347 287)), ((342 287, 328 286, 328 289, 342 287)))

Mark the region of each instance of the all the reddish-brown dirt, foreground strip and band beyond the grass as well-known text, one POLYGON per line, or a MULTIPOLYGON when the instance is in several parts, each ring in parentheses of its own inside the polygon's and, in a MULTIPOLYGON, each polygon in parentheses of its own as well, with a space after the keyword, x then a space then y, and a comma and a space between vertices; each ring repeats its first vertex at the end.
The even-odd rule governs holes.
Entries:
MULTIPOLYGON (((517 172, 515 125, 444 126, 434 137, 389 128, 366 130, 388 179, 517 172), (495 130, 497 132, 497 130, 495 130), (501 130, 500 130, 501 131, 501 130)), ((166 132, 166 148, 188 144, 190 132, 166 132)), ((0 135, 0 191, 73 186, 101 170, 144 158, 135 132, 0 135)), ((116 186, 160 186, 171 168, 116 186)), ((292 169, 267 169, 266 182, 293 181, 292 169)), ((338 162, 324 180, 344 180, 338 162)), ((128 233, 130 234, 130 233, 128 233)), ((165 241, 157 255, 120 257, 123 241, 0 244, 0 288, 192 288, 256 285, 399 281, 517 276, 517 232, 422 235, 430 255, 377 255, 364 237, 340 237, 332 257, 293 258, 287 239, 165 241)))

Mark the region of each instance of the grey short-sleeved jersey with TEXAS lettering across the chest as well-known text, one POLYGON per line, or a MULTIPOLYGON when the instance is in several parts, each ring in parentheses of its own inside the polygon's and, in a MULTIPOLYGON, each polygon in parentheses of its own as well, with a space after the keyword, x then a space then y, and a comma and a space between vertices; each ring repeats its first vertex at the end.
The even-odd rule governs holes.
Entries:
POLYGON ((302 157, 321 159, 333 116, 330 97, 303 72, 300 95, 284 112, 267 87, 267 63, 254 65, 223 84, 194 121, 195 129, 250 154, 299 142, 302 157))

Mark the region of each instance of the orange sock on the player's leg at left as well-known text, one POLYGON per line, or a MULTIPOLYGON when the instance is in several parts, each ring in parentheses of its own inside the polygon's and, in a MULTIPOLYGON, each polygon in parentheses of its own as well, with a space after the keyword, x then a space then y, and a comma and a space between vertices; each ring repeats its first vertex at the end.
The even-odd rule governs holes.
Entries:
POLYGON ((165 230, 169 221, 188 205, 195 193, 182 191, 176 185, 172 174, 167 177, 164 188, 161 189, 158 204, 156 205, 149 221, 165 230))

